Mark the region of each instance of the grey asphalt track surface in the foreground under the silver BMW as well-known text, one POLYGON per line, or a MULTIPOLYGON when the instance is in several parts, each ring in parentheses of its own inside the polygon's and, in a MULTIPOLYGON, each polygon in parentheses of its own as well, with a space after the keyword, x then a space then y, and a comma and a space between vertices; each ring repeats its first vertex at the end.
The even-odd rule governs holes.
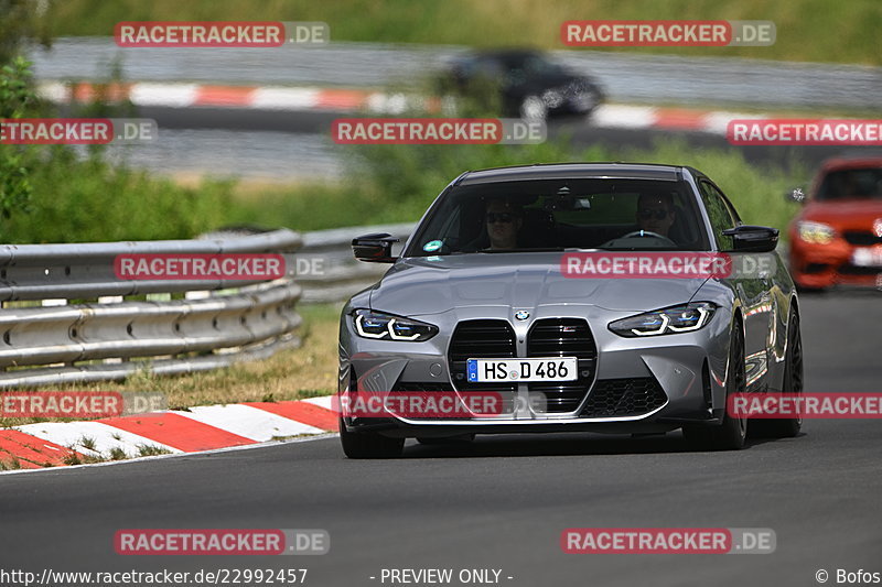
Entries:
MULTIPOLYGON (((879 391, 882 294, 804 296, 807 391, 879 391)), ((679 435, 478 437, 346 460, 336 438, 0 475, 0 568, 497 568, 512 586, 809 586, 882 572, 882 422, 809 421, 797 438, 689 452, 679 435), (771 528, 765 555, 568 555, 567 528, 771 528), (120 556, 119 529, 325 529, 324 556, 120 556), (513 577, 508 579, 507 577, 513 577)), ((370 579, 369 577, 377 577, 370 579)), ((389 583, 385 583, 389 585, 389 583)), ((456 581, 451 585, 461 585, 456 581)))

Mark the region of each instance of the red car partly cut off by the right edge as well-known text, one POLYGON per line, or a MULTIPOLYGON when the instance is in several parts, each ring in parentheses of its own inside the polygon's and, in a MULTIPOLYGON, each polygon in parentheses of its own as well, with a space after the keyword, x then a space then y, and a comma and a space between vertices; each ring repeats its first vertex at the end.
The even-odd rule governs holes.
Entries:
POLYGON ((882 156, 824 162, 790 222, 790 274, 803 290, 882 287, 882 156))

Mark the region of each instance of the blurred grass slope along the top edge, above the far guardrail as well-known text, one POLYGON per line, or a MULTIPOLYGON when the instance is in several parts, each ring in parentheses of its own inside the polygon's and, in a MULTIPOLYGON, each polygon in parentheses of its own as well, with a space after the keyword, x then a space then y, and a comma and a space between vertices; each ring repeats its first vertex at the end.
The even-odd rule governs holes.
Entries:
POLYGON ((559 31, 568 20, 657 19, 771 20, 777 37, 768 47, 619 51, 882 64, 876 0, 65 0, 54 4, 51 29, 56 35, 109 36, 119 21, 324 21, 333 41, 563 48, 559 31))

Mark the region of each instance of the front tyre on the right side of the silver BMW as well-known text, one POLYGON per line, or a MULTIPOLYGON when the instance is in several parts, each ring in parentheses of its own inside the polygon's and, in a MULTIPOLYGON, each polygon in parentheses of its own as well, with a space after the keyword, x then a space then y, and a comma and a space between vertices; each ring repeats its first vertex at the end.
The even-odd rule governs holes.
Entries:
MULTIPOLYGON (((735 324, 732 341, 729 345, 729 371, 725 376, 727 406, 729 398, 743 393, 747 387, 744 367, 744 335, 741 325, 735 324)), ((719 426, 684 426, 686 441, 703 450, 738 450, 744 447, 747 436, 747 418, 732 417, 729 410, 723 409, 723 422, 719 426)))

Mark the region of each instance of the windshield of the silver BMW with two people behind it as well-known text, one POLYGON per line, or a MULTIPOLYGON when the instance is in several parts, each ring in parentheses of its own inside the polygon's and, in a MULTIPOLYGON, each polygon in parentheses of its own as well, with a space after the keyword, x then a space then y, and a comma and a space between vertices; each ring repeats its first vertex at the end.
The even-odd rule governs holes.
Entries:
POLYGON ((687 184, 538 180, 454 186, 408 257, 538 250, 709 250, 687 184))

